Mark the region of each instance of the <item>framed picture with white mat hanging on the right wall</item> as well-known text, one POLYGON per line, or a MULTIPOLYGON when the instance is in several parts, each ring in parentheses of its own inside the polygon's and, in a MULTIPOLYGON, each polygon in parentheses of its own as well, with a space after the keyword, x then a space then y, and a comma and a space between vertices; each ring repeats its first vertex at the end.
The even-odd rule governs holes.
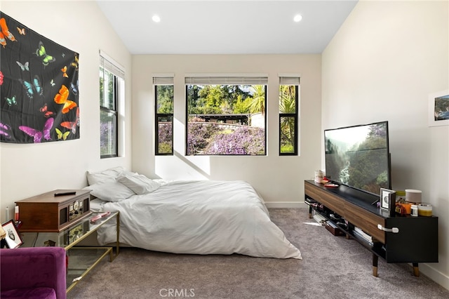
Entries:
POLYGON ((449 90, 429 94, 429 126, 449 126, 449 90))

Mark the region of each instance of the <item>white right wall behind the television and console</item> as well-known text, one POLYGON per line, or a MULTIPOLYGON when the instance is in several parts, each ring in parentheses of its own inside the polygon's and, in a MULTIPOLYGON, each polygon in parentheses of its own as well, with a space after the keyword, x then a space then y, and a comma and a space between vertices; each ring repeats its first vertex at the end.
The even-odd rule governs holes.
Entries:
POLYGON ((449 126, 427 123, 429 93, 449 89, 448 3, 358 2, 323 52, 322 126, 389 121, 393 189, 438 216, 439 263, 420 269, 449 289, 449 126))

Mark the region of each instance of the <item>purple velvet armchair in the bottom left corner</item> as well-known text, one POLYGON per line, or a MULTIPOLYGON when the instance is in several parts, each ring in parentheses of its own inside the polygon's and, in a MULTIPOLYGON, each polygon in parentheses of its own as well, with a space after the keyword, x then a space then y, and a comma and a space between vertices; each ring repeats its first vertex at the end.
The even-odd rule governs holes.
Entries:
POLYGON ((0 249, 0 298, 57 298, 66 295, 62 247, 0 249))

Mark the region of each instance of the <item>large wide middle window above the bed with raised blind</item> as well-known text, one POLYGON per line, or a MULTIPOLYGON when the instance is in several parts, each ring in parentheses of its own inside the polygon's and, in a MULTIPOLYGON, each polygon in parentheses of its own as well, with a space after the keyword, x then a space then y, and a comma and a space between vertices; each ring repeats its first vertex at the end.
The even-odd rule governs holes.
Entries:
POLYGON ((267 77, 186 77, 186 155, 265 155, 267 77))

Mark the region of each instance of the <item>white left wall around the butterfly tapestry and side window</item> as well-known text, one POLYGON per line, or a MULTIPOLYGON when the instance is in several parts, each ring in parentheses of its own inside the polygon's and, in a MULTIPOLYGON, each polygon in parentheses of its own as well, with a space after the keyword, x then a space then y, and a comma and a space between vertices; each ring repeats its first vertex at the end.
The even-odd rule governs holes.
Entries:
POLYGON ((35 32, 79 53, 81 124, 78 140, 0 143, 0 219, 4 222, 9 220, 4 213, 6 206, 12 218, 15 201, 55 189, 86 186, 87 170, 130 168, 130 117, 126 121, 121 117, 124 157, 100 160, 98 67, 100 49, 125 67, 126 105, 120 113, 129 114, 131 55, 94 1, 2 0, 0 9, 35 32))

